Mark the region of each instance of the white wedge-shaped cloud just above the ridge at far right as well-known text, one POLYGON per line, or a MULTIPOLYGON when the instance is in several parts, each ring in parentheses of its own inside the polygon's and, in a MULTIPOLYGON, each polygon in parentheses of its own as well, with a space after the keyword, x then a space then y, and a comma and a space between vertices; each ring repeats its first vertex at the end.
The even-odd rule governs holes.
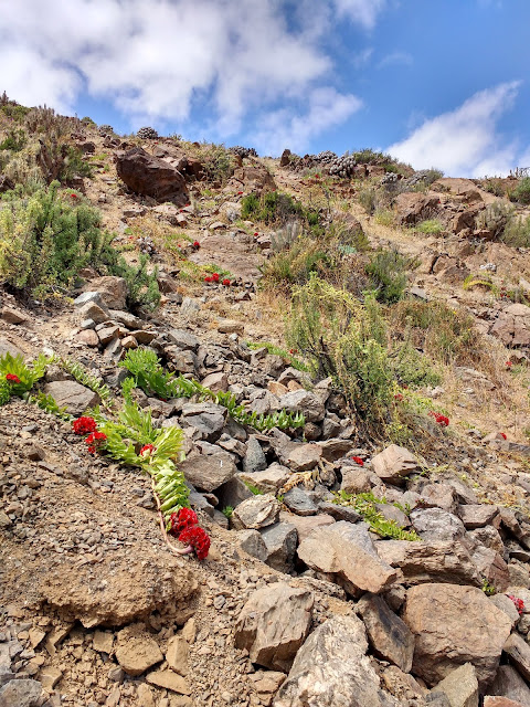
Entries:
POLYGON ((416 169, 438 167, 457 177, 507 173, 516 166, 516 144, 506 144, 498 123, 517 97, 519 81, 480 91, 458 108, 425 120, 406 139, 386 148, 416 169))

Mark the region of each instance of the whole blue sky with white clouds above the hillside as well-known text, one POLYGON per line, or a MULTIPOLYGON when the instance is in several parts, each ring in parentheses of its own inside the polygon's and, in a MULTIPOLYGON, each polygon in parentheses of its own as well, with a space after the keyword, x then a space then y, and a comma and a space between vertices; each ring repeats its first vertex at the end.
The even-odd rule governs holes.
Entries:
POLYGON ((0 92, 278 155, 530 166, 530 0, 0 0, 0 92))

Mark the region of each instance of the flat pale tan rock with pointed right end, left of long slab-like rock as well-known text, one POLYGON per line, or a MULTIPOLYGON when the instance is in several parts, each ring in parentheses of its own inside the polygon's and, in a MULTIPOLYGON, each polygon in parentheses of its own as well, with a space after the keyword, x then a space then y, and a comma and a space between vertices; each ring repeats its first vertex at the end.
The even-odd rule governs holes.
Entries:
POLYGON ((314 530, 298 547, 298 557, 314 570, 335 574, 353 595, 362 591, 379 593, 398 577, 380 559, 363 523, 340 520, 314 530))

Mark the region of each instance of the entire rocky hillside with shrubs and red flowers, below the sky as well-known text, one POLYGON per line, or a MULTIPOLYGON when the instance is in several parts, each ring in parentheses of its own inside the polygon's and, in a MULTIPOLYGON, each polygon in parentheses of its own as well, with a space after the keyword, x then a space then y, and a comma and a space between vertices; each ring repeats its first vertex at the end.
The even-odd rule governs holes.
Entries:
POLYGON ((524 179, 4 96, 0 191, 0 707, 530 707, 524 179))

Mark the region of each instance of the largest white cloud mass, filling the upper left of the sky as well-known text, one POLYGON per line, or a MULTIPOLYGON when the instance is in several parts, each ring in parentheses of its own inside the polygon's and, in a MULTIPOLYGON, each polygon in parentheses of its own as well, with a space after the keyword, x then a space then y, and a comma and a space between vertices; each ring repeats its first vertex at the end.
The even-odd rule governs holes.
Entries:
MULTIPOLYGON (((322 34, 335 14, 372 28, 385 2, 325 0, 311 15, 321 23, 294 29, 287 0, 0 0, 0 89, 66 113, 86 92, 131 127, 183 124, 199 105, 225 139, 254 109, 318 96, 333 81, 322 34)), ((347 115, 337 96, 314 125, 347 115)))

